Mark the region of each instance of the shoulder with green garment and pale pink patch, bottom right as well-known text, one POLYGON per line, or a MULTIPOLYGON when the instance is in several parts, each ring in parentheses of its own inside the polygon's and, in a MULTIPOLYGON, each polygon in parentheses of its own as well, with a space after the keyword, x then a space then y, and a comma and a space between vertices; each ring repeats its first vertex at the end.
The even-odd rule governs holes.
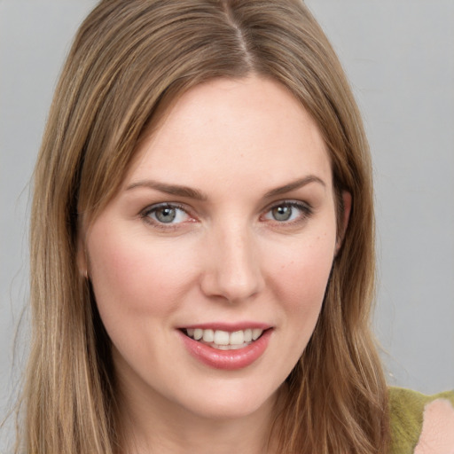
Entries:
POLYGON ((389 388, 391 454, 454 454, 454 390, 389 388))

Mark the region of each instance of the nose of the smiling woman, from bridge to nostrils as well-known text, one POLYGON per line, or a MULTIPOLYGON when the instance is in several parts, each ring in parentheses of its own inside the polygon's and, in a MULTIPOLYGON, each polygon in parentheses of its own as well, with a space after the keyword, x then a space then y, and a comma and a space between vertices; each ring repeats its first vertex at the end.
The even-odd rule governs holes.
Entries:
POLYGON ((254 233, 247 228, 231 226, 214 232, 205 251, 201 289, 208 297, 238 302, 262 291, 259 251, 254 233))

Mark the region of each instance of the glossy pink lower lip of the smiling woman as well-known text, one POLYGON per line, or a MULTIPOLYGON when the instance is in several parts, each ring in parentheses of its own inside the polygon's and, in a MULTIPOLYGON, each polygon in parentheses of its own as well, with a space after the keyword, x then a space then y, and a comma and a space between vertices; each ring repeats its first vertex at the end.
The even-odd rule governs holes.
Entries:
POLYGON ((189 353, 201 363, 207 364, 215 369, 236 371, 253 364, 263 355, 268 347, 271 332, 271 329, 265 331, 259 339, 254 340, 247 347, 239 348, 238 350, 218 350, 217 348, 193 340, 181 331, 179 333, 189 353))

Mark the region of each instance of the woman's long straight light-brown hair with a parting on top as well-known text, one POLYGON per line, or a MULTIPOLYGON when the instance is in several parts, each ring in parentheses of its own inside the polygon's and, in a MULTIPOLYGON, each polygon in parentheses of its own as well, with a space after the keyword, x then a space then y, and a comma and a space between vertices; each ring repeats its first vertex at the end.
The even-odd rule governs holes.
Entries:
POLYGON ((172 99, 215 77, 253 73, 285 85, 317 121, 339 211, 342 191, 353 200, 273 436, 289 454, 387 451, 387 387, 370 331, 370 155, 340 63, 298 0, 105 0, 83 22, 35 168, 33 343, 18 451, 121 451, 110 343, 76 263, 81 214, 94 219, 113 197, 137 141, 172 99))

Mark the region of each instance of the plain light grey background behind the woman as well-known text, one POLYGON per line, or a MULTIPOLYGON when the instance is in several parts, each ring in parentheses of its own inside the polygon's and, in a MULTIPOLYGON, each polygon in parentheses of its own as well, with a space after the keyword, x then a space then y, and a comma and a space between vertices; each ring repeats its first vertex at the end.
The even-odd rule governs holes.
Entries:
MULTIPOLYGON (((391 384, 454 387, 454 0, 310 0, 369 135, 391 384)), ((89 0, 0 0, 0 419, 24 362, 29 179, 51 94, 89 0)), ((0 444, 0 450, 2 445, 0 444)))

